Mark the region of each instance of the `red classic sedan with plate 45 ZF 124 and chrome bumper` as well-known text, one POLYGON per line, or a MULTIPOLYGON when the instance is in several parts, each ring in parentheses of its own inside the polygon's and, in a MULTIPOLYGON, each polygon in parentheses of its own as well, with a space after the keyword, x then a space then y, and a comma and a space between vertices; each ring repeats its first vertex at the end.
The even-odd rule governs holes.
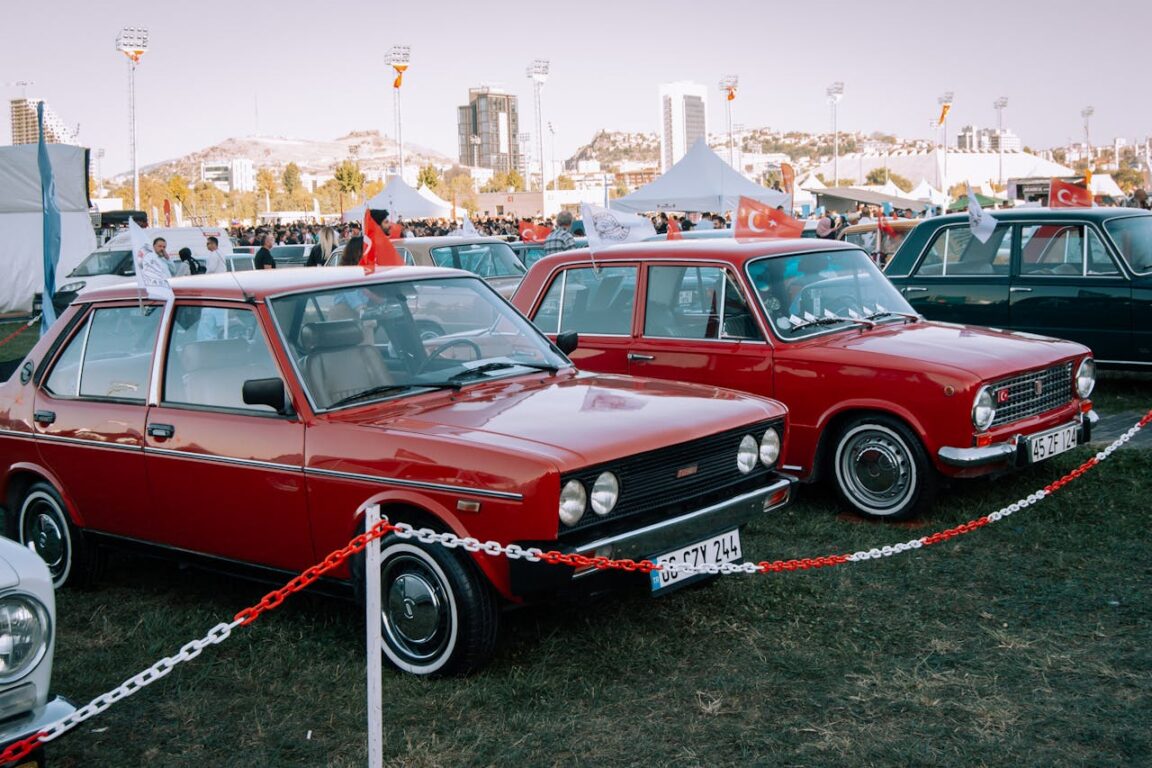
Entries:
POLYGON ((513 303, 577 332, 582 368, 730 387, 788 406, 783 469, 902 518, 941 477, 1033 464, 1089 439, 1081 344, 929 322, 859 248, 697 239, 566 251, 513 303))

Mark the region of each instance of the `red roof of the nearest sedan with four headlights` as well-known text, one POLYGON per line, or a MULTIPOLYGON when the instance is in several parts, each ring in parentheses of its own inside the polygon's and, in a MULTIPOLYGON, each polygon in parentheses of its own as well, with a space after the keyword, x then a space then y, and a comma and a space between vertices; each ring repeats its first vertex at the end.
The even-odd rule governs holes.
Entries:
MULTIPOLYGON (((177 298, 221 298, 257 301, 300 290, 336 288, 382 282, 402 282, 429 277, 472 277, 471 272, 444 267, 378 267, 371 275, 358 266, 301 267, 296 269, 252 269, 219 272, 214 274, 173 277, 168 281, 177 298)), ((111 301, 138 297, 136 282, 123 282, 107 288, 93 288, 82 294, 81 301, 111 301)))

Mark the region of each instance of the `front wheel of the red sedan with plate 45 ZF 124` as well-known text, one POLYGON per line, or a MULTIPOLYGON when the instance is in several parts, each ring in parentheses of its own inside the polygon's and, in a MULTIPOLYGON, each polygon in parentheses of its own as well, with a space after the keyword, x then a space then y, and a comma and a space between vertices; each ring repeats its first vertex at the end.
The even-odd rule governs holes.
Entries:
POLYGON ((889 520, 927 510, 940 485, 916 435, 900 420, 879 413, 857 418, 840 431, 832 473, 849 507, 889 520))

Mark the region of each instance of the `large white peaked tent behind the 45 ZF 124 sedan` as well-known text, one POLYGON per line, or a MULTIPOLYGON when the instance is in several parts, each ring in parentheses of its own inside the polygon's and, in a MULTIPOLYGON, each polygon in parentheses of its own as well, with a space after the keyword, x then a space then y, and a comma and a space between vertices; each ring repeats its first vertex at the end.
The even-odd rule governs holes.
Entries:
POLYGON ((788 196, 766 189, 741 176, 720 159, 704 139, 680 159, 666 174, 638 190, 612 200, 616 211, 700 211, 721 213, 735 211, 741 197, 785 205, 788 196))

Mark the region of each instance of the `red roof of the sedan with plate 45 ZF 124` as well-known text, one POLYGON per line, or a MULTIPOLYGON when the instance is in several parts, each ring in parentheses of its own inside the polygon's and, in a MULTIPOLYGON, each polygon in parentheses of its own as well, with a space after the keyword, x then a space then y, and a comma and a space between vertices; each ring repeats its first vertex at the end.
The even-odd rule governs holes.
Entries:
POLYGON ((765 237, 758 239, 735 239, 730 237, 713 237, 700 239, 647 241, 613 245, 607 249, 574 249, 547 256, 531 269, 544 269, 567 261, 635 261, 657 259, 719 259, 730 264, 742 265, 745 261, 761 257, 791 256, 794 253, 811 253, 812 251, 849 251, 859 250, 850 243, 834 239, 817 239, 812 237, 765 237), (543 265, 543 266, 541 266, 543 265))

